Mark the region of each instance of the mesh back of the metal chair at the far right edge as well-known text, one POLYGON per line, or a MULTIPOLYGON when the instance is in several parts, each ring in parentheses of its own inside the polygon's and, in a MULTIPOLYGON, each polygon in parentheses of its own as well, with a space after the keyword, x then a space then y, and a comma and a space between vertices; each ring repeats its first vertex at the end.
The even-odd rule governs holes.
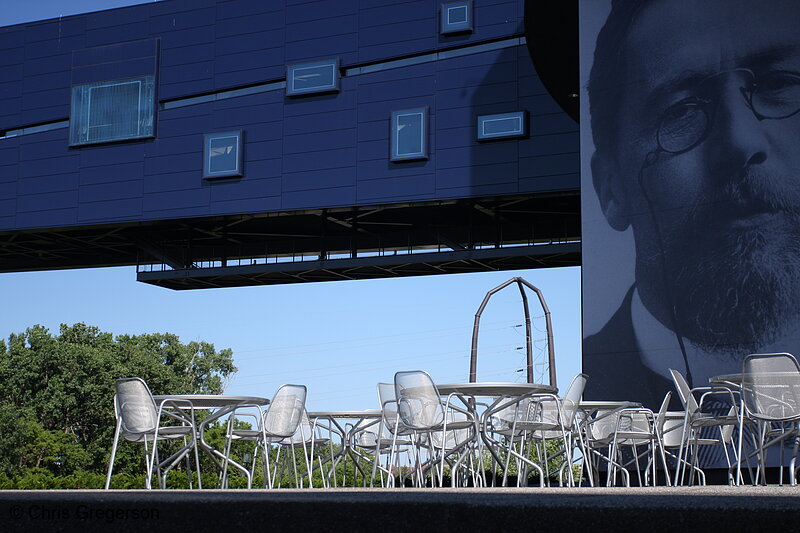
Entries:
POLYGON ((742 364, 747 413, 760 420, 800 418, 800 365, 788 353, 750 354, 742 364))

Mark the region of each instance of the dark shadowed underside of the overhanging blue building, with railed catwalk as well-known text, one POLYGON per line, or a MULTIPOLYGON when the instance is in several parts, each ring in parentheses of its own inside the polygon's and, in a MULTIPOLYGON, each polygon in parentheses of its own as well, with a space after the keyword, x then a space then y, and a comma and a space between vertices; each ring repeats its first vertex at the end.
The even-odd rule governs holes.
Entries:
POLYGON ((580 264, 578 191, 0 234, 0 271, 137 265, 170 289, 580 264))

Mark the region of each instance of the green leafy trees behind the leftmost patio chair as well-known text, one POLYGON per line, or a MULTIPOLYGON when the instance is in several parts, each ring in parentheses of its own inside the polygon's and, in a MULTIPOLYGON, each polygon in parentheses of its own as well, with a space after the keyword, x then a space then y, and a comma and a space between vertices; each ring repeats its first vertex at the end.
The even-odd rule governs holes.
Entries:
MULTIPOLYGON (((117 378, 140 377, 153 394, 220 394, 235 372, 230 349, 170 333, 114 337, 82 323, 13 333, 0 341, 0 475, 105 472, 117 378)), ((115 471, 141 475, 141 445, 121 446, 115 471)))

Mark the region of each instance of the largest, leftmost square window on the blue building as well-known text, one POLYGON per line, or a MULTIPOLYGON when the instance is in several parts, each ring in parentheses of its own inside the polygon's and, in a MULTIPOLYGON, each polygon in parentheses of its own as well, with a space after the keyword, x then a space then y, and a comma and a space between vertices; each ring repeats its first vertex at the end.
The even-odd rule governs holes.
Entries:
POLYGON ((72 88, 69 144, 153 137, 155 77, 85 83, 72 88))

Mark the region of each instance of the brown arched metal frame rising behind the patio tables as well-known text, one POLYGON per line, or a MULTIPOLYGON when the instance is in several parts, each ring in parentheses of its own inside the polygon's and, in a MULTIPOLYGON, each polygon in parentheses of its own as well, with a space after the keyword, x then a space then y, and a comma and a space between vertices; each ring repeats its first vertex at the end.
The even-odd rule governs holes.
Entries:
POLYGON ((553 324, 550 321, 550 309, 547 307, 547 302, 544 301, 544 295, 542 291, 538 288, 534 287, 530 283, 528 283, 525 279, 520 277, 511 278, 510 280, 501 283, 494 289, 490 290, 486 293, 486 296, 483 298, 483 302, 481 302, 478 311, 475 313, 475 323, 472 326, 472 351, 470 354, 470 361, 469 361, 469 381, 470 383, 474 383, 477 379, 478 373, 478 329, 480 328, 481 324, 481 315, 483 314, 483 310, 486 308, 486 304, 489 303, 489 299, 495 294, 500 292, 501 290, 505 289, 512 283, 516 283, 517 287, 519 288, 519 293, 522 295, 522 306, 525 311, 525 349, 527 352, 527 378, 528 383, 533 383, 533 341, 531 338, 531 313, 530 308, 528 307, 528 296, 525 294, 525 287, 528 287, 530 290, 536 293, 536 296, 539 297, 539 303, 544 310, 544 320, 547 329, 547 358, 548 358, 548 366, 550 371, 550 385, 555 387, 557 386, 556 382, 556 355, 555 350, 553 349, 553 324))

